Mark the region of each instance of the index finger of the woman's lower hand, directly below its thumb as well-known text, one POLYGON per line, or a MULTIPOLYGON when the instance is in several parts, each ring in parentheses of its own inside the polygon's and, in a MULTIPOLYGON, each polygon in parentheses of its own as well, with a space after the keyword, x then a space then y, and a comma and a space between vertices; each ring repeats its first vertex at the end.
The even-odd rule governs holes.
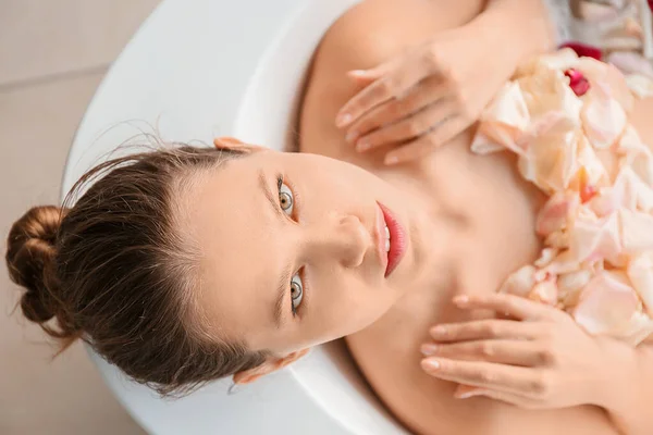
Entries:
POLYGON ((486 339, 532 340, 538 338, 539 326, 532 322, 486 319, 440 324, 432 327, 429 334, 438 343, 486 339))

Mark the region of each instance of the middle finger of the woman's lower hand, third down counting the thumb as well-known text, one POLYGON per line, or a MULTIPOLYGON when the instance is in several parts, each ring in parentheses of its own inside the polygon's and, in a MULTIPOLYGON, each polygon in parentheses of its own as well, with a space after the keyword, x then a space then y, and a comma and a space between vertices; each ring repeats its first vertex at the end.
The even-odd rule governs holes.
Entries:
POLYGON ((464 361, 486 361, 501 364, 537 366, 541 356, 532 341, 489 339, 454 344, 427 343, 421 351, 428 357, 464 361))

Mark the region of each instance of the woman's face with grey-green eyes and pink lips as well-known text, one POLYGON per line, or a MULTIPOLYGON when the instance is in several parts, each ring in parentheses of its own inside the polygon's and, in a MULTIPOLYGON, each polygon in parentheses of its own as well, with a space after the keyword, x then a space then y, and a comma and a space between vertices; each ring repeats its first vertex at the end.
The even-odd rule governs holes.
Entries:
POLYGON ((287 353, 365 328, 410 287, 423 257, 402 191, 321 156, 256 151, 211 171, 186 199, 204 314, 212 334, 250 350, 287 353))

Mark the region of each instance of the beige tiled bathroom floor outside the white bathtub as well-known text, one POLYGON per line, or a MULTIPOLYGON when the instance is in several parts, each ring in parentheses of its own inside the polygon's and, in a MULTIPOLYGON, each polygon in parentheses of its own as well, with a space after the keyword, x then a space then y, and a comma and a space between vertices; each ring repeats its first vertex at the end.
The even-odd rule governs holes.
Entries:
MULTIPOLYGON (((0 234, 57 203, 75 128, 113 59, 159 0, 0 0, 0 234)), ((4 250, 4 241, 3 248, 4 250)), ((54 347, 12 313, 0 266, 0 434, 139 435, 78 344, 54 347)))

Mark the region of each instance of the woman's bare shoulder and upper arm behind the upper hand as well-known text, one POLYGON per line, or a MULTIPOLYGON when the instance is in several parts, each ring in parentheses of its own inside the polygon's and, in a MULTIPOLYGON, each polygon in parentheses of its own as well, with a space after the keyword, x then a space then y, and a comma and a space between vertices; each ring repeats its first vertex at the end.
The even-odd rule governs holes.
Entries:
POLYGON ((335 127, 337 111, 359 90, 346 73, 375 66, 439 30, 464 24, 478 14, 482 3, 366 0, 345 12, 326 32, 313 57, 298 120, 300 151, 368 170, 377 167, 382 153, 357 154, 335 127))

